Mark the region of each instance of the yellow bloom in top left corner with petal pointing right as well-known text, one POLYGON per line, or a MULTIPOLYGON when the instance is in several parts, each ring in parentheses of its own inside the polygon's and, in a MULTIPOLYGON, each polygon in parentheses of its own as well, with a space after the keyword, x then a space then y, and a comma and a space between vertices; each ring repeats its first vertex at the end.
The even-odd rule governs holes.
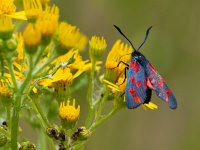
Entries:
POLYGON ((24 11, 16 12, 14 0, 0 0, 0 15, 10 18, 26 20, 24 11))

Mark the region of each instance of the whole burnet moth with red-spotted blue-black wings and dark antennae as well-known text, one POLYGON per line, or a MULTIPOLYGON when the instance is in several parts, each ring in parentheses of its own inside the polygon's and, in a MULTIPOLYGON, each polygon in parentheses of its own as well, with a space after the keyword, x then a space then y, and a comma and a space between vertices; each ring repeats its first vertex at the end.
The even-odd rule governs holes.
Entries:
POLYGON ((146 42, 152 26, 147 29, 144 41, 138 49, 133 46, 132 42, 123 34, 119 27, 116 25, 114 27, 128 40, 133 48, 130 64, 122 62, 128 68, 125 89, 127 107, 134 109, 141 104, 148 104, 151 101, 152 90, 154 90, 156 95, 167 102, 171 109, 176 109, 177 102, 172 91, 168 88, 161 75, 154 69, 153 65, 139 52, 142 45, 146 42))

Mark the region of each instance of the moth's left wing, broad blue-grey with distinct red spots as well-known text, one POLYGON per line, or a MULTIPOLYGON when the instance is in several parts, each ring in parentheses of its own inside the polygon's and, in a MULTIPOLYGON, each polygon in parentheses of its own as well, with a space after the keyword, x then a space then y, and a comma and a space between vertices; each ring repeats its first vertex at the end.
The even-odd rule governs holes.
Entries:
POLYGON ((144 67, 138 62, 131 61, 128 70, 125 97, 129 109, 143 104, 146 99, 146 77, 144 67))

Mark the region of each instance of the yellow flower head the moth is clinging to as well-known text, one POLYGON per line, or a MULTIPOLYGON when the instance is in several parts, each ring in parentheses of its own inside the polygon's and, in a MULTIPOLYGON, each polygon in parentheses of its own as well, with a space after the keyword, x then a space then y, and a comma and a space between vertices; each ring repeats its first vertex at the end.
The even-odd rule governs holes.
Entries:
POLYGON ((131 52, 131 46, 122 43, 120 40, 115 42, 106 59, 104 73, 106 80, 115 83, 124 74, 126 66, 120 62, 128 63, 131 58, 131 52))

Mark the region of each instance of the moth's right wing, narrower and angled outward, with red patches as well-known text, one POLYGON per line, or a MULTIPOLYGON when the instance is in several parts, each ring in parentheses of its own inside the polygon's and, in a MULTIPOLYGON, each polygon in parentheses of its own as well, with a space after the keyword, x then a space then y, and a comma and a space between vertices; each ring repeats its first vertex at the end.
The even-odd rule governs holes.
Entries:
POLYGON ((171 109, 176 109, 177 102, 174 94, 168 88, 164 79, 154 69, 151 63, 147 63, 147 65, 145 66, 145 73, 147 76, 147 86, 155 90, 156 95, 165 102, 167 102, 171 109))

